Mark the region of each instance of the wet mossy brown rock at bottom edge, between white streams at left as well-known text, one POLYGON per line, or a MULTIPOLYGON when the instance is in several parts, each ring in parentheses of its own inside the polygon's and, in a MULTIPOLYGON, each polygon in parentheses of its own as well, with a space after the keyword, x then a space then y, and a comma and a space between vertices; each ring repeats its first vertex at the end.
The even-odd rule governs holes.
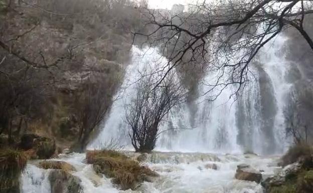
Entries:
POLYGON ((83 192, 81 180, 66 171, 54 169, 49 174, 51 193, 80 193, 83 192))

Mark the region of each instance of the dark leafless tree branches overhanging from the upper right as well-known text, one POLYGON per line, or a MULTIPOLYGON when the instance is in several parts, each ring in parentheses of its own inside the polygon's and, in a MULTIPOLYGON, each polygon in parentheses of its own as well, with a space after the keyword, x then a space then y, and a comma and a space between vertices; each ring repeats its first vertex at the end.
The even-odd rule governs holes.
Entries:
POLYGON ((159 83, 174 68, 197 61, 204 71, 216 75, 207 83, 211 86, 207 92, 218 88, 218 96, 226 87, 234 86, 233 96, 249 80, 249 64, 259 50, 283 30, 296 29, 313 49, 303 27, 305 16, 313 14, 311 1, 204 1, 190 5, 188 10, 176 15, 147 10, 149 33, 134 33, 134 37, 146 37, 151 46, 161 45, 169 59, 159 83))

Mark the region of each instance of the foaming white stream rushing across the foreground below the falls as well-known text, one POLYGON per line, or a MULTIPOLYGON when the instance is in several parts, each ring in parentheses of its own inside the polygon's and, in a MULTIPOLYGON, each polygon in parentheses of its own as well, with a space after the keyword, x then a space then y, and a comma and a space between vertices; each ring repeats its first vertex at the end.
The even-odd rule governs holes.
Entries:
MULTIPOLYGON (((130 156, 134 153, 129 152, 130 156)), ((144 182, 136 191, 120 190, 110 179, 100 177, 92 166, 84 162, 85 154, 73 153, 60 155, 59 159, 72 164, 77 171, 73 175, 81 179, 85 193, 117 192, 185 192, 185 193, 262 193, 260 184, 234 179, 238 164, 248 163, 259 170, 263 176, 269 176, 279 170, 277 157, 259 157, 255 155, 218 155, 208 153, 153 153, 144 163, 160 174, 153 182, 144 182), (215 163, 218 170, 206 168, 206 164, 215 163)), ((29 163, 22 174, 22 193, 50 193, 48 175, 50 170, 40 169, 36 163, 29 163)), ((62 192, 60 192, 62 193, 62 192)))

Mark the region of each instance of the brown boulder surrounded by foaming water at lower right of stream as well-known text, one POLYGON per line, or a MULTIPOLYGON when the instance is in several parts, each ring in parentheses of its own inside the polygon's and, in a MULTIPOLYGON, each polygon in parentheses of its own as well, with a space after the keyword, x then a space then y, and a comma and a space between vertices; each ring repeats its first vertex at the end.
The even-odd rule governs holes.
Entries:
POLYGON ((237 165, 235 178, 260 183, 262 180, 262 174, 248 164, 240 164, 237 165))

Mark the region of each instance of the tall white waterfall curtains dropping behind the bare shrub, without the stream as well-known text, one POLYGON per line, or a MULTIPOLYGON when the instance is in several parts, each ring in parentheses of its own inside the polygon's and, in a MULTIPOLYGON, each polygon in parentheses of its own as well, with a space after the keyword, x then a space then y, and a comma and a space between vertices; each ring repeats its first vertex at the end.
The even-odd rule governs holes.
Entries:
MULTIPOLYGON (((205 82, 213 77, 208 73, 203 83, 198 85, 199 97, 193 101, 193 111, 190 104, 182 104, 160 125, 159 130, 166 132, 160 135, 156 150, 281 153, 287 145, 284 134, 284 96, 292 86, 285 81, 288 71, 288 61, 284 59, 282 51, 285 41, 285 37, 278 36, 261 49, 250 67, 253 78, 236 100, 230 98, 233 88, 228 87, 216 100, 207 100, 205 93, 210 87, 205 82)), ((111 139, 132 148, 125 123, 124 105, 129 103, 135 93, 134 83, 140 77, 140 70, 155 61, 158 61, 158 66, 167 64, 166 58, 154 49, 140 50, 133 47, 132 53, 125 80, 116 96, 118 99, 114 101, 101 133, 88 148, 98 148, 111 139)))

